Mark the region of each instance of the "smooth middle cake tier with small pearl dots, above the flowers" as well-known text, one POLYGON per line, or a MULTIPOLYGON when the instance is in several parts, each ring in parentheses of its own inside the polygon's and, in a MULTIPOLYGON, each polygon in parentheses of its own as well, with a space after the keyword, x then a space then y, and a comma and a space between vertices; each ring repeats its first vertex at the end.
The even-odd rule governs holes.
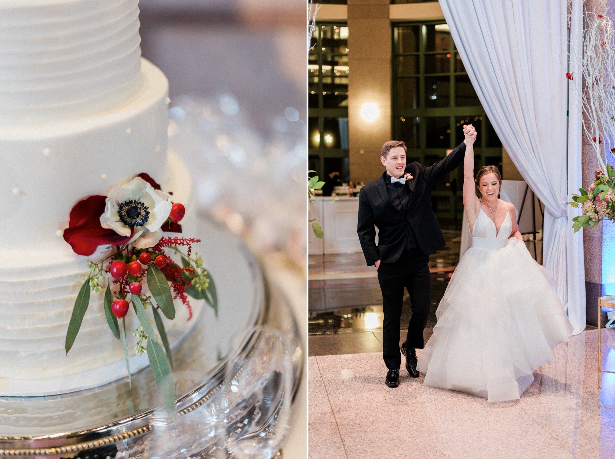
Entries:
POLYGON ((113 111, 70 122, 0 124, 0 251, 66 249, 75 203, 147 172, 165 181, 164 74, 141 60, 137 95, 113 111))

